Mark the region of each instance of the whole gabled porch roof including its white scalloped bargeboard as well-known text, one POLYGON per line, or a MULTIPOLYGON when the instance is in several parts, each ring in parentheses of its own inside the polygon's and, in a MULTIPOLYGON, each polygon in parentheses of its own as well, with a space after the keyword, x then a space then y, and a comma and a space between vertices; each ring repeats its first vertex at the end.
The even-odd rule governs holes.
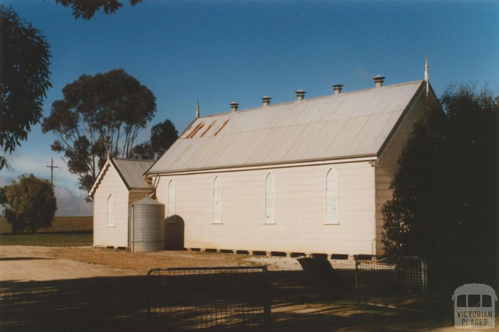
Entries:
POLYGON ((132 189, 152 189, 151 185, 146 181, 143 174, 156 161, 155 160, 140 160, 127 158, 111 158, 102 166, 99 174, 88 192, 92 196, 98 187, 104 173, 108 167, 113 167, 120 176, 123 184, 128 190, 132 189))

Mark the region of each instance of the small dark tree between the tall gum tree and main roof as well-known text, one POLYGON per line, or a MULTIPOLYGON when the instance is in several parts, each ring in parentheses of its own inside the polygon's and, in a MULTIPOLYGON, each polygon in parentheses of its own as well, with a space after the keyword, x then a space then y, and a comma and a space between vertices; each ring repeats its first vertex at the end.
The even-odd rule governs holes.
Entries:
POLYGON ((175 125, 166 119, 165 122, 158 123, 151 129, 149 141, 136 145, 130 154, 131 158, 137 159, 158 159, 175 143, 179 132, 175 125))

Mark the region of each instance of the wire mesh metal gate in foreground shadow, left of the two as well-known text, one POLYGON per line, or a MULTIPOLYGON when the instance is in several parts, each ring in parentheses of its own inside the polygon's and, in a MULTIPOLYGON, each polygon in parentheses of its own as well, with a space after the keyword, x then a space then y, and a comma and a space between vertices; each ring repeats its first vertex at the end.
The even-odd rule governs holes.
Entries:
POLYGON ((152 269, 148 274, 152 330, 269 331, 267 269, 152 269))

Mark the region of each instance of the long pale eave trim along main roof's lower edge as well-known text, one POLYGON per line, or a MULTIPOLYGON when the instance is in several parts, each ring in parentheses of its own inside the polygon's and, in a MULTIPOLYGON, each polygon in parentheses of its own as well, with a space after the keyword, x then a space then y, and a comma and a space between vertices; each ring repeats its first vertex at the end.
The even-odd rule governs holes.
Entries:
POLYGON ((377 161, 378 157, 373 154, 369 157, 358 157, 358 158, 343 158, 343 159, 329 159, 320 161, 308 161, 308 162, 298 162, 298 163, 279 163, 279 164, 268 164, 268 165, 253 165, 253 166, 236 166, 236 167, 222 167, 216 169, 200 169, 200 170, 179 170, 179 171, 166 171, 166 172, 154 172, 147 174, 148 177, 159 174, 160 176, 166 175, 187 175, 187 174, 202 174, 202 173, 221 173, 221 172, 234 172, 234 171, 245 171, 250 169, 273 169, 273 168, 286 168, 286 167, 300 167, 300 166, 313 166, 313 165, 331 165, 331 164, 345 164, 345 163, 356 163, 356 162, 369 162, 377 161))

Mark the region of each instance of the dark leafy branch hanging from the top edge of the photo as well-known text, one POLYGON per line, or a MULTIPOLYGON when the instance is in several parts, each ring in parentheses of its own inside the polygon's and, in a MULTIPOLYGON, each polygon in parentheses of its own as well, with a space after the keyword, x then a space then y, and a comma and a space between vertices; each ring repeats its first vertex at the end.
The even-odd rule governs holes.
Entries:
MULTIPOLYGON (((132 6, 143 0, 129 0, 132 6)), ((82 17, 90 19, 100 8, 104 9, 106 14, 114 13, 121 8, 123 4, 118 0, 55 0, 56 3, 64 7, 71 7, 74 18, 82 17)))

